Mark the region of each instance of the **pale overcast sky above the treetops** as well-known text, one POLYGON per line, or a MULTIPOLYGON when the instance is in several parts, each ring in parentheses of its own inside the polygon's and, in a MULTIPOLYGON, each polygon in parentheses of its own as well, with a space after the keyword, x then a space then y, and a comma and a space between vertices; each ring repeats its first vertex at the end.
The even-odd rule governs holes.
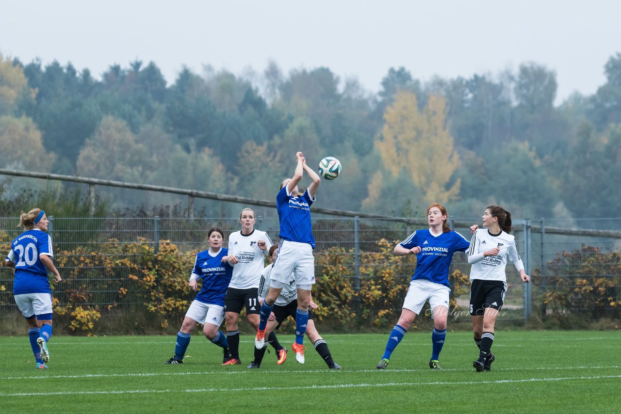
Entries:
POLYGON ((155 61, 168 84, 184 65, 240 74, 274 60, 285 73, 326 66, 372 92, 391 67, 428 81, 534 61, 556 71, 558 103, 604 84, 619 16, 613 0, 0 0, 0 53, 98 78, 155 61))

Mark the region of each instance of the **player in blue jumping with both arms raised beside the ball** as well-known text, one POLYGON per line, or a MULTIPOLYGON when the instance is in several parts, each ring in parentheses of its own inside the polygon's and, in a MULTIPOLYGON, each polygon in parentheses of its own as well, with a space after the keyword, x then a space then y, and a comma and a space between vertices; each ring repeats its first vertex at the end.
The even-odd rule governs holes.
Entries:
POLYGON ((291 349, 296 353, 296 361, 304 364, 303 340, 309 319, 311 286, 315 283, 315 258, 312 255, 315 239, 311 231, 311 204, 315 201, 315 193, 321 179, 306 165, 306 158, 301 152, 296 153, 296 163, 293 177, 282 182, 276 196, 281 242, 271 271, 270 290, 261 305, 255 348, 263 349, 268 317, 270 317, 278 295, 289 283, 290 276, 293 274, 297 288, 297 311, 296 341, 291 349), (297 184, 305 171, 312 182, 300 196, 297 192, 297 184))

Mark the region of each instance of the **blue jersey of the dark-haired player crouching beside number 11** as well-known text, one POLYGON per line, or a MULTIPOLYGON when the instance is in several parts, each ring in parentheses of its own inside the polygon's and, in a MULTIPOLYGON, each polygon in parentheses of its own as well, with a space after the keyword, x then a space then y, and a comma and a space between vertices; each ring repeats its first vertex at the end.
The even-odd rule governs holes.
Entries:
POLYGON ((199 302, 224 307, 224 295, 233 276, 233 266, 222 262, 222 258, 227 254, 229 250, 222 248, 215 256, 209 254, 209 250, 196 255, 192 273, 197 274, 202 280, 201 291, 195 298, 199 302))

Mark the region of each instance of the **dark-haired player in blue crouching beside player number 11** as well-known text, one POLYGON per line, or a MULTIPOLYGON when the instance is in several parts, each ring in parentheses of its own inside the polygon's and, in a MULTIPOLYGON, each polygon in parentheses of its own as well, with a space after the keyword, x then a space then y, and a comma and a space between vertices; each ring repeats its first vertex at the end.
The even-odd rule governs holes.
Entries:
POLYGON ((222 362, 231 359, 227 336, 218 328, 224 320, 224 295, 233 276, 233 267, 228 263, 229 251, 222 247, 224 243, 222 229, 210 228, 207 232, 207 241, 209 241, 209 250, 201 251, 196 255, 189 282, 190 288, 197 290, 196 281, 201 279, 201 291, 196 295, 183 319, 175 343, 175 356, 165 364, 183 364, 183 357, 197 323, 202 323, 202 333, 206 338, 223 349, 222 362))

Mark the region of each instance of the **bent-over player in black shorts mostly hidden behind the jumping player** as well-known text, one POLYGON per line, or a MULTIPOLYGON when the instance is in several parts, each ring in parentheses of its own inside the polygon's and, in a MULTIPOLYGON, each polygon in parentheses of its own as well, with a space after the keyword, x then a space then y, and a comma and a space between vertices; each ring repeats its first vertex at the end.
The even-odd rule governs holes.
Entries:
MULTIPOLYGON (((273 262, 276 259, 276 249, 278 246, 271 246, 270 255, 268 259, 270 262, 273 262)), ((270 275, 272 271, 273 264, 268 264, 263 269, 263 274, 261 274, 261 282, 259 285, 259 300, 264 300, 265 295, 268 294, 270 289, 270 275)), ((283 290, 281 290, 278 298, 276 298, 276 302, 274 302, 274 307, 270 317, 268 317, 268 323, 266 325, 266 333, 273 332, 274 329, 278 329, 283 323, 283 321, 287 317, 296 317, 297 313, 297 289, 295 287, 295 281, 293 279, 293 275, 291 274, 291 279, 289 284, 285 284, 283 286, 283 290)), ((312 309, 317 309, 318 305, 312 301, 312 296, 310 298, 309 307, 312 309)), ((315 351, 324 359, 324 362, 330 369, 341 369, 340 365, 338 365, 332 359, 332 354, 330 353, 330 349, 328 348, 328 344, 325 343, 324 338, 319 335, 317 332, 317 328, 315 328, 315 322, 312 320, 312 311, 309 309, 309 320, 308 325, 306 327, 306 335, 311 340, 311 343, 315 346, 315 351)), ((258 368, 261 366, 261 361, 263 361, 263 355, 265 355, 265 349, 267 349, 267 344, 263 346, 261 349, 255 348, 255 359, 250 363, 248 368, 258 368)))

